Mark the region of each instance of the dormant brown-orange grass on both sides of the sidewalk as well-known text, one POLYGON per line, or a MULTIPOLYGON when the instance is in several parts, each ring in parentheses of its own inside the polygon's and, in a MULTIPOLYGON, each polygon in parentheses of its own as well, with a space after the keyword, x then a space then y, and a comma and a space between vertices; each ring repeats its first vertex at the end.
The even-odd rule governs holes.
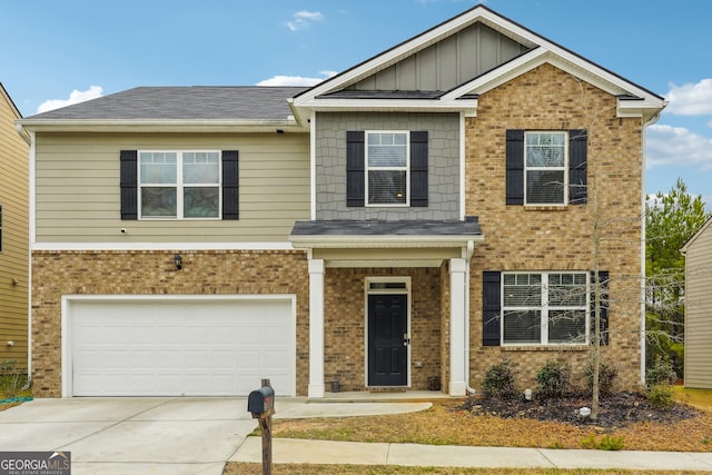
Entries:
MULTIPOLYGON (((328 441, 412 443, 541 448, 712 452, 712 390, 676 387, 678 400, 703 410, 700 417, 674 424, 637 423, 604 431, 567 424, 496 416, 473 416, 457 410, 454 403, 435 404, 413 414, 369 417, 275 419, 273 435, 287 438, 328 441)), ((225 474, 260 474, 259 464, 227 464, 225 474)), ((442 467, 276 465, 275 475, 491 475, 491 474, 682 474, 692 472, 564 471, 564 469, 482 469, 442 467)))

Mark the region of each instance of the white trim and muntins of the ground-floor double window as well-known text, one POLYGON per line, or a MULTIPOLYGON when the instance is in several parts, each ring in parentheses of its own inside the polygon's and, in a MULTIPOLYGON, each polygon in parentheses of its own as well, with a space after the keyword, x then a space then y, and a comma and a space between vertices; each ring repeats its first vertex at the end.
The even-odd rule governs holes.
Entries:
POLYGON ((500 345, 501 346, 582 346, 589 345, 591 340, 591 273, 587 271, 577 271, 577 270, 547 270, 547 271, 513 271, 513 273, 502 273, 502 278, 500 279, 501 288, 500 295, 501 297, 501 315, 500 315, 500 345), (532 307, 505 307, 504 306, 504 276, 505 275, 523 275, 523 274, 537 274, 542 277, 542 304, 541 306, 532 306, 532 307), (552 274, 573 274, 573 275, 584 275, 586 281, 586 304, 583 306, 584 311, 586 314, 585 317, 585 337, 583 342, 572 342, 572 343, 548 343, 548 310, 580 310, 582 307, 580 306, 567 306, 567 307, 553 307, 548 306, 548 276, 552 274), (504 313, 506 310, 540 310, 541 311, 541 334, 540 334, 540 343, 506 343, 504 340, 504 313))

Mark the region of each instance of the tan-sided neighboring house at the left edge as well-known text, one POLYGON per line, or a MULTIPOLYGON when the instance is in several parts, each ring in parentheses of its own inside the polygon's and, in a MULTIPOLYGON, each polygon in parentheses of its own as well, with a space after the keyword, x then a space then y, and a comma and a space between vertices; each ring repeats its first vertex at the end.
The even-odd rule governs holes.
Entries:
POLYGON ((27 369, 29 311, 28 150, 20 111, 0 83, 0 360, 27 369))

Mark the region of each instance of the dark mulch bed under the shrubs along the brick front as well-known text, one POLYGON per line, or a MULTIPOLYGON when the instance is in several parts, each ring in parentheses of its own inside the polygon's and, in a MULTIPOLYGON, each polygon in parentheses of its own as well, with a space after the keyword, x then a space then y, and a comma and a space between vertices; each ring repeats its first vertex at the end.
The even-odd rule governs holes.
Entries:
POLYGON ((474 415, 493 415, 503 418, 528 418, 567 423, 578 427, 619 428, 640 422, 676 423, 698 417, 700 412, 684 404, 675 404, 668 410, 650 405, 644 395, 639 393, 614 393, 601 397, 599 417, 592 420, 582 417, 582 407, 591 407, 591 396, 568 394, 562 397, 512 399, 471 398, 459 409, 474 415))

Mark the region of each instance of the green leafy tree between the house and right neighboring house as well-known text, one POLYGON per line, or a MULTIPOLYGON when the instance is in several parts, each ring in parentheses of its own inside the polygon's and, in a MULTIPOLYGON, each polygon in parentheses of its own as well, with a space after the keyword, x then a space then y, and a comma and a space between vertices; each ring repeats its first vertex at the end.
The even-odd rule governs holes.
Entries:
POLYGON ((673 359, 682 375, 684 338, 684 256, 682 246, 711 215, 702 197, 692 196, 678 179, 668 194, 659 191, 645 201, 646 363, 673 359))

